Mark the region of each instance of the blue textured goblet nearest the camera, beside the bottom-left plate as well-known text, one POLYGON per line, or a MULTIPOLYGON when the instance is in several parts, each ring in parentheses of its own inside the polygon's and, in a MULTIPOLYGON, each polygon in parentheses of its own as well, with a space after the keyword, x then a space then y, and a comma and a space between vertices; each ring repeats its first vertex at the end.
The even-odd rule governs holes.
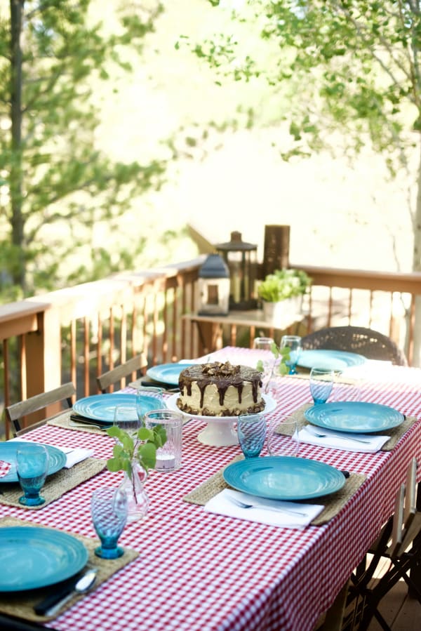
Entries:
POLYGON ((124 550, 117 545, 127 521, 127 496, 121 489, 102 487, 92 493, 93 527, 101 540, 95 554, 102 559, 117 559, 124 550))

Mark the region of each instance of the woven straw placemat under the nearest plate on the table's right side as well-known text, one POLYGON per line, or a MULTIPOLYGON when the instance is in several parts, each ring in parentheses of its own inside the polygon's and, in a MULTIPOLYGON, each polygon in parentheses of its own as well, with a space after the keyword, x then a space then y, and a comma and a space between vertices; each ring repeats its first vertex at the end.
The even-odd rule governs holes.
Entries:
MULTIPOLYGON (((237 462, 238 460, 242 460, 243 456, 237 456, 232 460, 229 465, 237 462)), ((227 465, 228 466, 228 465, 227 465)), ((225 467, 224 467, 225 469, 225 467)), ((223 491, 224 489, 231 489, 232 487, 227 484, 223 477, 223 471, 220 471, 213 474, 208 480, 200 484, 190 493, 187 493, 187 496, 183 498, 185 502, 189 502, 191 504, 199 504, 200 506, 204 506, 208 500, 213 498, 215 495, 223 491)), ((349 498, 351 498, 354 493, 359 489, 363 481, 366 479, 365 475, 352 473, 349 475, 349 478, 345 481, 344 486, 339 491, 335 493, 331 493, 328 496, 323 496, 320 498, 315 498, 314 500, 305 500, 305 504, 323 504, 324 508, 315 517, 311 525, 312 526, 322 526, 329 522, 330 519, 335 517, 338 512, 345 506, 349 498)))

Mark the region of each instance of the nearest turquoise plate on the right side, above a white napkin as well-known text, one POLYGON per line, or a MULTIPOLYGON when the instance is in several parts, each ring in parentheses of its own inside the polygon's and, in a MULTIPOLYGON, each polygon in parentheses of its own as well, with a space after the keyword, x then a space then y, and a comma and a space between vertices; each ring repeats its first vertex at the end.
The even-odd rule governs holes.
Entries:
POLYGON ((224 479, 237 491, 270 500, 308 500, 335 493, 344 474, 325 463, 293 456, 247 458, 228 465, 224 479))

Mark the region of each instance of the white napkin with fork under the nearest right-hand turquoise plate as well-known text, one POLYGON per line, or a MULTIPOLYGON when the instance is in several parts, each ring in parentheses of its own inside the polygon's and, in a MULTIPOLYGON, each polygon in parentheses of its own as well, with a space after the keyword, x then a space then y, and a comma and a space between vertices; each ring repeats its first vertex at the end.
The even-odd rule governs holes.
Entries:
POLYGON ((283 526, 284 528, 305 528, 323 508, 323 506, 316 504, 267 500, 231 489, 220 491, 204 506, 206 512, 248 519, 250 522, 259 522, 268 526, 283 526), (236 505, 234 503, 236 500, 244 504, 252 504, 253 508, 236 505))

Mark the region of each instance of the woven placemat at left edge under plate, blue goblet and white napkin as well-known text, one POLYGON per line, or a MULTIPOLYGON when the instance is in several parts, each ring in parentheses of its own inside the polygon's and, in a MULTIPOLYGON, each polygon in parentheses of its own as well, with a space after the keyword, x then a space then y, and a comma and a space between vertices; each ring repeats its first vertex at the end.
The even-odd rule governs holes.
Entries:
POLYGON ((18 506, 29 510, 41 510, 51 502, 61 498, 64 493, 74 489, 85 480, 100 473, 107 466, 107 460, 100 458, 86 458, 81 463, 73 465, 70 469, 60 469, 57 473, 48 476, 46 483, 41 489, 41 496, 45 498, 44 504, 39 506, 24 506, 19 503, 22 496, 22 489, 18 482, 4 482, 0 486, 0 504, 8 506, 18 506))

